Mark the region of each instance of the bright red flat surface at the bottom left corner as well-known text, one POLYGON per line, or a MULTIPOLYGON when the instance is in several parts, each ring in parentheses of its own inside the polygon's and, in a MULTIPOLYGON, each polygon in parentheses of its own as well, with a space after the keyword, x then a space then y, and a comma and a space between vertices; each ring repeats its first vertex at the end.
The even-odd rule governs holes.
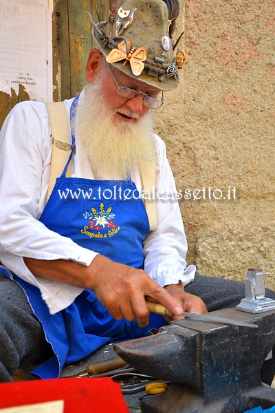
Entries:
POLYGON ((0 408, 64 400, 64 413, 129 413, 120 384, 109 378, 47 379, 0 384, 0 408))

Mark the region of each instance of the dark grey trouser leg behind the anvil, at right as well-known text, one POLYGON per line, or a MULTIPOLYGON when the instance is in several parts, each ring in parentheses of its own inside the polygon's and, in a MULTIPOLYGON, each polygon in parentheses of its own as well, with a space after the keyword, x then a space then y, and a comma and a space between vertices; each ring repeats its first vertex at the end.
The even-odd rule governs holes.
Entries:
MULTIPOLYGON (((201 297, 208 311, 235 307, 245 297, 245 284, 231 279, 196 275, 195 280, 184 288, 187 293, 201 297)), ((265 290, 265 297, 275 299, 275 292, 265 290)), ((275 346, 273 357, 263 363, 261 381, 271 384, 275 373, 275 346)))

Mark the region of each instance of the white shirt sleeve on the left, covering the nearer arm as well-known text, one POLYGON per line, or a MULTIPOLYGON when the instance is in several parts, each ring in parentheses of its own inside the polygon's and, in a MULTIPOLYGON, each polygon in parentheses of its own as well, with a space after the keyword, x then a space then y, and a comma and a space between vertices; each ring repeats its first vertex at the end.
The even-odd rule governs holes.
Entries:
POLYGON ((89 266, 96 256, 39 221, 46 202, 51 145, 45 105, 30 101, 16 105, 0 135, 0 260, 36 286, 39 277, 32 275, 23 257, 89 266))

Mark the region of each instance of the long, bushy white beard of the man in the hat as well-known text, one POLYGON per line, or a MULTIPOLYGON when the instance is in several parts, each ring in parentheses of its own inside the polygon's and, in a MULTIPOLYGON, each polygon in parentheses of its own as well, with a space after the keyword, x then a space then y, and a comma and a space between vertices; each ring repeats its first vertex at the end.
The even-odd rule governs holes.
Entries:
POLYGON ((155 156, 153 120, 150 112, 133 125, 113 118, 102 92, 102 78, 85 88, 73 128, 82 140, 93 171, 111 180, 129 179, 137 171, 140 158, 155 156))

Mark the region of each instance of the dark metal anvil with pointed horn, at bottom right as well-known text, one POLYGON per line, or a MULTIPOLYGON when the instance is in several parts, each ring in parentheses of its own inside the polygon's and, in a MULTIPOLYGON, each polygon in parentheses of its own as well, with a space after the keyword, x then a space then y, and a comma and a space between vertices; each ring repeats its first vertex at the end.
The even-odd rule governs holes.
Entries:
POLYGON ((259 328, 179 319, 159 335, 114 346, 131 366, 171 381, 157 396, 144 396, 144 413, 241 413, 275 405, 275 389, 261 383, 263 361, 275 344, 275 310, 244 313, 235 308, 209 313, 259 328))

